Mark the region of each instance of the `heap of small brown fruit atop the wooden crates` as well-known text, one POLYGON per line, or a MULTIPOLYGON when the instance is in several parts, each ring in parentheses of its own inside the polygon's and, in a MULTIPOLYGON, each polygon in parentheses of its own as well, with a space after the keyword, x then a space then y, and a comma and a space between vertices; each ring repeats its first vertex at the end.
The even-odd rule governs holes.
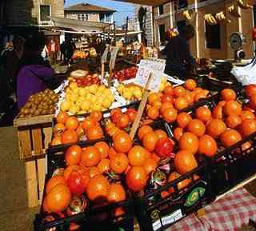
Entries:
POLYGON ((54 114, 58 94, 46 89, 30 96, 26 105, 20 110, 18 117, 34 117, 39 115, 54 114))

